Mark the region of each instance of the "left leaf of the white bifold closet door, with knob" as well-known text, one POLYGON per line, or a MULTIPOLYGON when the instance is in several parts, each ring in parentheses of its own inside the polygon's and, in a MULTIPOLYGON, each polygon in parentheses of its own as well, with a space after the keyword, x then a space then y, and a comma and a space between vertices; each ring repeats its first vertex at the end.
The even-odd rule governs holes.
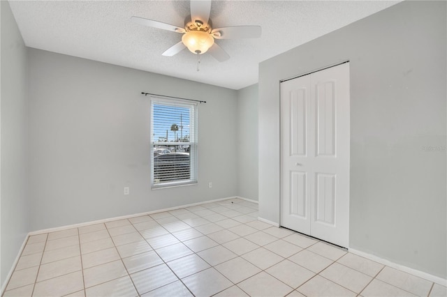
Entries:
POLYGON ((310 75, 281 83, 281 225, 310 234, 310 75))

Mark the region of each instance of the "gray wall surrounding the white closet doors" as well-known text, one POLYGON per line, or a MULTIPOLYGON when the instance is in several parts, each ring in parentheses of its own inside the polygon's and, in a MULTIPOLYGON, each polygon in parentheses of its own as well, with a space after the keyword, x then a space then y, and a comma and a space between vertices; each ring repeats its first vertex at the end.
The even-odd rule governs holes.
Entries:
POLYGON ((279 222, 279 80, 346 59, 349 245, 446 278, 445 1, 404 1, 261 63, 260 216, 279 222))

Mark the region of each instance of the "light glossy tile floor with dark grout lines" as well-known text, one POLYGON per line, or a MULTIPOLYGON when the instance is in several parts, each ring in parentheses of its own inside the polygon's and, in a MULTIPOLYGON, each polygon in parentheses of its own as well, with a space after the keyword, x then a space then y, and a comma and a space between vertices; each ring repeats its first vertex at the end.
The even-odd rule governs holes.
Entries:
POLYGON ((3 296, 446 296, 242 199, 30 236, 3 296))

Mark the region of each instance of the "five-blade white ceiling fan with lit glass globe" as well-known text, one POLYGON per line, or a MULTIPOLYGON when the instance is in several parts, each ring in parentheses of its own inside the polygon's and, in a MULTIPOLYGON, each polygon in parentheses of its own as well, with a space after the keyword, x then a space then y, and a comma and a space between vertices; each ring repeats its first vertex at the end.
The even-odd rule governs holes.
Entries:
POLYGON ((230 59, 230 56, 214 42, 214 39, 239 39, 261 37, 261 26, 227 26, 212 28, 210 19, 211 0, 191 1, 191 21, 186 18, 184 27, 166 24, 143 17, 131 17, 131 20, 143 26, 182 33, 182 41, 163 52, 163 56, 174 56, 185 47, 193 54, 205 54, 209 52, 219 62, 230 59))

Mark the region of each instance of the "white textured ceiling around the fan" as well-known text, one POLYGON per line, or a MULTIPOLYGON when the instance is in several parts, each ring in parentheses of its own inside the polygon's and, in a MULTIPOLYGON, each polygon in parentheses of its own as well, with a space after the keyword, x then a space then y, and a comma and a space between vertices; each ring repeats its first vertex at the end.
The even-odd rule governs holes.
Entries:
POLYGON ((183 26, 189 1, 9 1, 24 43, 50 52, 191 79, 230 89, 258 82, 258 63, 372 15, 399 1, 213 1, 213 27, 260 25, 257 39, 217 40, 230 55, 219 63, 188 50, 161 54, 180 33, 131 22, 145 17, 183 26))

